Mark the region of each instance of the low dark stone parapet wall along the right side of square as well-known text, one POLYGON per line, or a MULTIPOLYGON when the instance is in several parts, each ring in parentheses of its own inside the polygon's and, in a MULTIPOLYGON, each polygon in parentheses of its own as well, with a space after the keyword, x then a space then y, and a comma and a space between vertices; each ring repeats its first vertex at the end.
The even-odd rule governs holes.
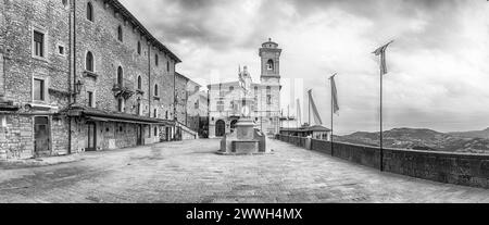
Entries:
MULTIPOLYGON (((304 138, 281 136, 277 138, 300 147, 304 138)), ((375 147, 312 140, 311 150, 333 154, 368 167, 380 168, 380 149, 375 147)), ((489 188, 489 155, 384 149, 385 172, 440 183, 489 188)))

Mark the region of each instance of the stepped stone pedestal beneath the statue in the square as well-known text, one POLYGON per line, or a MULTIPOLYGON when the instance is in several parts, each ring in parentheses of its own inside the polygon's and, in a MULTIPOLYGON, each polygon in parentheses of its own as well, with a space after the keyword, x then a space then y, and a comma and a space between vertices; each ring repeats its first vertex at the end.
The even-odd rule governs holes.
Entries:
POLYGON ((266 154, 266 136, 254 128, 251 118, 240 118, 236 132, 227 134, 221 141, 220 154, 266 154))

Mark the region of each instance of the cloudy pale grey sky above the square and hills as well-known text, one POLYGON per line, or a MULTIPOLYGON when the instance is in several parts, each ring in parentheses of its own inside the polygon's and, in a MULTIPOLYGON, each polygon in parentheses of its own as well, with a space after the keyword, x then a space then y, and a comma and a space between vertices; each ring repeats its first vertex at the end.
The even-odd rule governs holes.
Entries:
POLYGON ((121 1, 183 59, 177 71, 202 85, 236 79, 238 65, 248 65, 258 82, 258 49, 272 38, 284 49, 284 109, 296 112, 289 84, 312 88, 326 126, 326 77, 339 73, 340 134, 378 130, 379 71, 372 52, 391 39, 386 129, 489 127, 486 0, 121 1))

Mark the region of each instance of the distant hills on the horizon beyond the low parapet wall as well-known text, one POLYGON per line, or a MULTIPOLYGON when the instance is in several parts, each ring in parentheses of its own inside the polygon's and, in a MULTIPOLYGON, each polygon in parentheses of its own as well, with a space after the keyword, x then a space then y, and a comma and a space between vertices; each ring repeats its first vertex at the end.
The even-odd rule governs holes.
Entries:
MULTIPOLYGON (((487 130, 489 133, 489 129, 487 130)), ((358 132, 335 137, 337 141, 378 147, 380 133, 358 132)), ((444 134, 431 129, 396 128, 384 133, 386 148, 489 153, 484 132, 444 134)))

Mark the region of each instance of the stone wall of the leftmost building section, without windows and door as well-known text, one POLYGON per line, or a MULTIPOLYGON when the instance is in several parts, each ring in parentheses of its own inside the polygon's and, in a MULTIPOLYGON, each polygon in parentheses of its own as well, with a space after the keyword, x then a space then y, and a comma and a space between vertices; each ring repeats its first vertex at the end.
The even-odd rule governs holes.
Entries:
POLYGON ((67 54, 60 54, 59 47, 70 43, 70 8, 62 1, 1 1, 0 23, 1 51, 5 52, 0 64, 3 73, 2 89, 8 101, 21 107, 16 113, 2 112, 7 121, 2 127, 3 138, 0 146, 7 149, 8 159, 27 159, 36 157, 34 151, 34 116, 48 116, 50 155, 64 154, 68 147, 68 129, 64 124, 53 121, 55 110, 62 109, 68 101, 70 61, 67 54), (45 57, 33 55, 33 32, 45 34, 45 57), (45 79, 43 101, 33 99, 33 78, 45 79), (33 103, 42 105, 39 110, 33 103))

